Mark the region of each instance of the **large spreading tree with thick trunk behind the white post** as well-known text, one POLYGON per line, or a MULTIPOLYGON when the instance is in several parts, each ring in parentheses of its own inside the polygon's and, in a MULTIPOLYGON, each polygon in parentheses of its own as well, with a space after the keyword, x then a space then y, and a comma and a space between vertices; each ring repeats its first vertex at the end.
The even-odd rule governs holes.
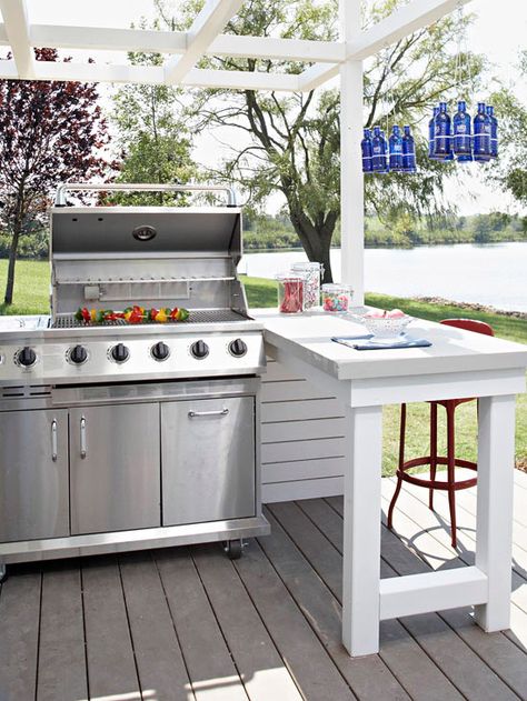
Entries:
MULTIPOLYGON (((367 22, 380 20, 400 0, 378 0, 367 22)), ((201 0, 187 0, 173 18, 163 0, 157 0, 166 27, 186 28, 201 0)), ((336 0, 252 0, 226 27, 227 33, 260 37, 335 40, 337 38, 336 0)), ((461 23, 447 17, 432 27, 396 42, 382 56, 375 57, 365 74, 365 126, 375 123, 410 124, 419 130, 430 107, 439 98, 453 98, 458 88, 457 58, 453 47, 461 23)), ((465 57, 467 60, 467 57, 465 57)), ((470 57, 471 79, 466 97, 477 82, 483 67, 470 57)), ((300 72, 299 63, 212 57, 202 66, 233 71, 300 72)), ((339 218, 339 93, 336 90, 286 94, 255 90, 200 90, 191 106, 196 130, 229 128, 240 132, 232 153, 213 172, 217 179, 238 182, 252 206, 265 203, 269 194, 280 192, 288 214, 310 260, 322 262, 326 280, 331 279, 329 248, 339 218)), ((390 174, 370 178, 366 183, 369 211, 386 218, 401 207, 415 216, 443 212, 444 176, 451 171, 445 163, 426 158, 426 144, 417 141, 420 172, 416 176, 390 174)))

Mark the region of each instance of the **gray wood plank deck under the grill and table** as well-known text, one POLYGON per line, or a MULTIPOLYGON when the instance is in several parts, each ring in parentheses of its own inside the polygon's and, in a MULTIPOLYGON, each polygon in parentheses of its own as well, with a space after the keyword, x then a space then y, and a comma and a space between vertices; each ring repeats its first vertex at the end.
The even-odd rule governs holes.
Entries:
MULTIPOLYGON (((384 511, 394 482, 384 480, 384 511)), ((458 493, 459 548, 408 487, 382 528, 382 577, 469 564, 475 493, 458 493)), ((513 628, 468 610, 384 622, 381 652, 340 644, 341 499, 270 505, 272 534, 232 563, 218 545, 17 565, 0 592, 0 701, 505 701, 527 698, 527 475, 516 474, 513 628)), ((382 514, 382 519, 385 514, 382 514)))

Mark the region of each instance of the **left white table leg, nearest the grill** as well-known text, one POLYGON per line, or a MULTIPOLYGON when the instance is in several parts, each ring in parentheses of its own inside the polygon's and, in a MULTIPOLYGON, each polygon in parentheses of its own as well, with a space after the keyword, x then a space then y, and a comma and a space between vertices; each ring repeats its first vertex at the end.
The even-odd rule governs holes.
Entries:
POLYGON ((379 650, 382 408, 347 408, 342 642, 356 657, 379 650))

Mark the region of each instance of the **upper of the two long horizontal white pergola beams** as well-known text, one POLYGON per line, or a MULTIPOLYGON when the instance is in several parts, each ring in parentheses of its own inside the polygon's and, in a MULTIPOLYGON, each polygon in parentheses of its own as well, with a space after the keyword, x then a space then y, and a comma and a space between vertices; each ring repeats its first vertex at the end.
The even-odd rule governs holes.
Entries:
MULTIPOLYGON (((30 40, 33 47, 53 49, 151 51, 176 54, 185 53, 188 43, 187 32, 181 31, 62 24, 32 24, 30 40)), ((8 43, 6 29, 3 24, 0 24, 0 44, 8 43)), ((344 61, 346 50, 344 43, 335 41, 219 34, 205 53, 231 58, 338 63, 344 61)))

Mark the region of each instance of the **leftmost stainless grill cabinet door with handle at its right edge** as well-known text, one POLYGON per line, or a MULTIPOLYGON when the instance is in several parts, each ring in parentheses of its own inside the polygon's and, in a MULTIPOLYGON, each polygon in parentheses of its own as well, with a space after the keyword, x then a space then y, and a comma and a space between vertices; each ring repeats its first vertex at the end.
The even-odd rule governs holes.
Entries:
POLYGON ((0 413, 0 542, 68 532, 68 411, 0 413))

